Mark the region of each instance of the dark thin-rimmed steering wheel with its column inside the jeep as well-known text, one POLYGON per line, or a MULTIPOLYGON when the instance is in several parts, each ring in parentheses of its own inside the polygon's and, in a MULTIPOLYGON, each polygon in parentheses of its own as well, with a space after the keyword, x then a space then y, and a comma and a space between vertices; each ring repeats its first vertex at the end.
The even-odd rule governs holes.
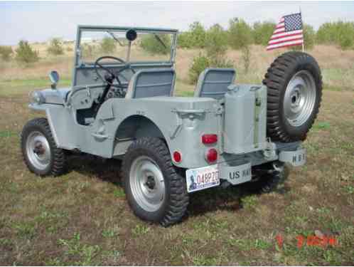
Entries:
POLYGON ((102 103, 104 102, 104 100, 107 96, 107 93, 111 87, 118 88, 119 95, 122 95, 122 96, 125 95, 124 89, 126 89, 128 87, 128 85, 122 84, 121 80, 119 80, 119 75, 120 75, 120 73, 122 73, 124 70, 127 70, 127 69, 132 70, 132 73, 135 73, 135 70, 130 66, 130 64, 126 63, 124 60, 122 60, 122 58, 116 58, 114 56, 102 56, 100 58, 97 58, 97 60, 95 61, 94 67, 95 67, 95 72, 97 74, 97 77, 99 77, 102 80, 102 82, 107 83, 107 85, 104 88, 103 93, 100 97, 100 100, 99 100, 100 105, 102 105, 102 103), (123 66, 123 68, 118 70, 116 73, 114 73, 112 70, 103 66, 102 63, 100 63, 100 61, 102 61, 104 59, 111 59, 111 60, 117 61, 119 63, 123 63, 124 66, 123 66), (102 68, 103 70, 105 70, 107 72, 104 75, 104 77, 102 77, 102 75, 98 71, 99 68, 102 68), (118 84, 113 83, 114 79, 117 80, 118 84))

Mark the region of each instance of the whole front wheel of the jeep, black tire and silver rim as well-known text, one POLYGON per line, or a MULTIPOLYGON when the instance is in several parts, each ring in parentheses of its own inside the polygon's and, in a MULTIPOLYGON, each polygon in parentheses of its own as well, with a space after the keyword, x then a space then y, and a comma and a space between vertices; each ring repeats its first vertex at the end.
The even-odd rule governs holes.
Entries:
POLYGON ((56 146, 44 117, 30 120, 23 127, 21 150, 23 161, 31 172, 40 176, 58 176, 65 172, 65 153, 56 146))

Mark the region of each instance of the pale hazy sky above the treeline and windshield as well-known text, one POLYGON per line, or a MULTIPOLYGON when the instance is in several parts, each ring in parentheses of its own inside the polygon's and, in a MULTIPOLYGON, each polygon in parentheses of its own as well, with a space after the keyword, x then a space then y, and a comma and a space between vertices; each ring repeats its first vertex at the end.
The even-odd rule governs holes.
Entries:
POLYGON ((75 39, 78 24, 188 29, 193 21, 227 27, 233 17, 277 22, 301 8, 315 29, 328 21, 354 21, 354 2, 326 1, 0 1, 0 45, 20 40, 75 39))

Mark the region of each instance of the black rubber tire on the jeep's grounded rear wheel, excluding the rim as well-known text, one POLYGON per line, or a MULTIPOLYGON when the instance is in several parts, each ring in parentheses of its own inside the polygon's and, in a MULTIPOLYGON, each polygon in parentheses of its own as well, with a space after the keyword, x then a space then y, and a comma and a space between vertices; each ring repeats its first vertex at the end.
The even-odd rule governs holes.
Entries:
POLYGON ((186 213, 189 202, 186 180, 178 173, 171 162, 171 155, 166 144, 154 137, 144 137, 129 146, 122 163, 122 177, 127 201, 134 214, 145 221, 158 222, 162 226, 176 224, 186 213), (163 174, 164 197, 156 211, 148 211, 139 204, 132 193, 132 164, 138 157, 145 156, 156 162, 163 174))

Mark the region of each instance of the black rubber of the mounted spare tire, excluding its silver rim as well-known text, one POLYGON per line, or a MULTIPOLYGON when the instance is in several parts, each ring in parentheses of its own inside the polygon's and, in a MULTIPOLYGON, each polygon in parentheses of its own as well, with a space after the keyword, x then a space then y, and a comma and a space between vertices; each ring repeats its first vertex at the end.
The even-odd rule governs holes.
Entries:
POLYGON ((305 140, 321 105, 322 76, 316 60, 307 53, 297 51, 284 53, 268 68, 263 83, 267 85, 267 136, 273 141, 280 142, 305 140), (291 125, 285 115, 284 96, 291 78, 301 70, 313 77, 316 96, 313 108, 309 108, 308 117, 304 116, 304 122, 301 122, 301 125, 294 125, 296 123, 291 125))

